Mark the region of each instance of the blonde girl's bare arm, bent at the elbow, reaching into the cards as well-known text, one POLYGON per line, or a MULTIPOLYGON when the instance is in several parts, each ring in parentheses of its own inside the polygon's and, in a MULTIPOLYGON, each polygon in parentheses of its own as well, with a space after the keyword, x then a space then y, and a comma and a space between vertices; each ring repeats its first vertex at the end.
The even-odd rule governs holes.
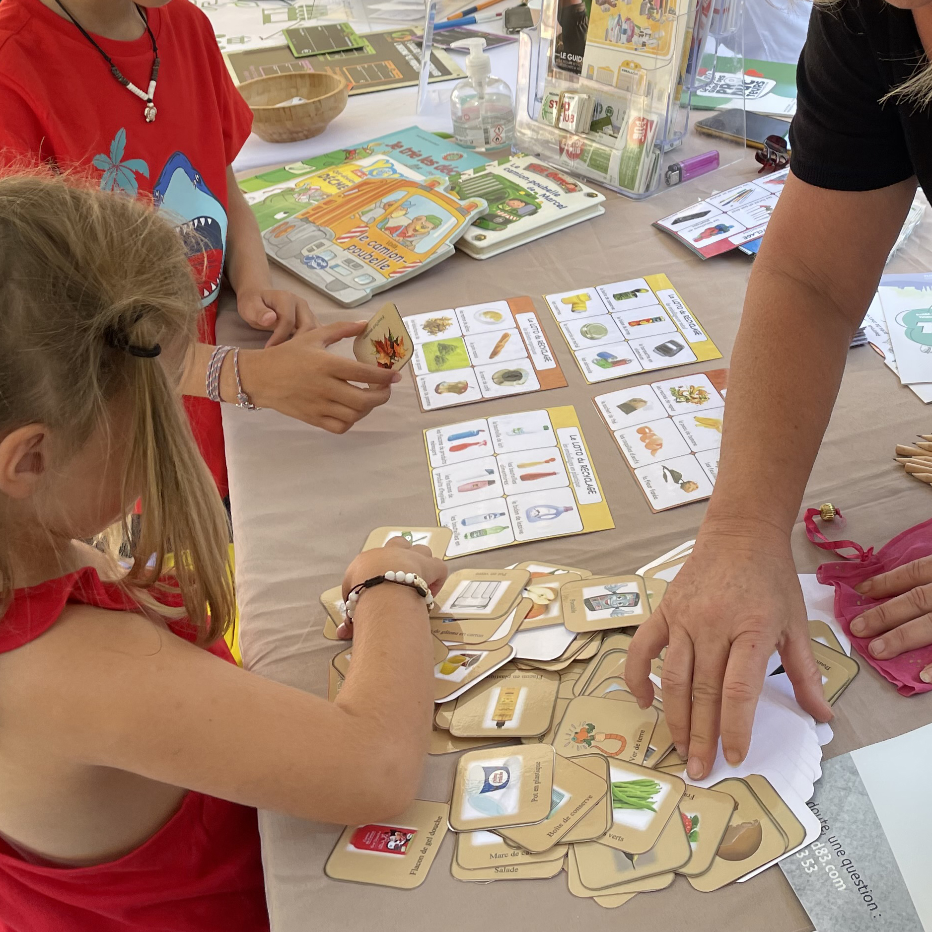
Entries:
MULTIPOLYGON (((344 595, 389 569, 437 589, 443 562, 405 544, 359 555, 344 595)), ((393 583, 363 594, 355 629, 349 676, 328 703, 139 615, 74 608, 6 664, 0 657, 0 715, 62 766, 115 767, 326 822, 379 821, 418 791, 433 715, 431 629, 424 599, 393 583)))

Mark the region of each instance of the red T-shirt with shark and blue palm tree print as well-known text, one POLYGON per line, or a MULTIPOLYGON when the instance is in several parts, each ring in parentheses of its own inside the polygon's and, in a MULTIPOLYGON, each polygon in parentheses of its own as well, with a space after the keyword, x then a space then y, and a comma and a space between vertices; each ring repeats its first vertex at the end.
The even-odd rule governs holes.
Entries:
MULTIPOLYGON (((81 167, 105 191, 153 195, 208 243, 200 336, 214 341, 214 301, 226 254, 226 166, 249 136, 253 115, 233 85, 210 21, 188 0, 146 11, 161 65, 155 105, 124 88, 75 25, 39 0, 0 2, 2 161, 81 167)), ((147 89, 152 45, 94 41, 137 88, 147 89)), ((202 260, 201 260, 202 261, 202 260)), ((201 453, 221 494, 226 460, 220 405, 185 398, 201 453)))

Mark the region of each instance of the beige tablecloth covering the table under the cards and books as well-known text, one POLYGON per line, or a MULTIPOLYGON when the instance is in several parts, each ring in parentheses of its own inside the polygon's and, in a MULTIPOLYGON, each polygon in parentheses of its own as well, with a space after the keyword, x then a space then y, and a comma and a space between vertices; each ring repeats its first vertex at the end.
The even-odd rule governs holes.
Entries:
MULTIPOLYGON (((657 217, 684 200, 753 177, 743 162, 699 178, 690 187, 644 201, 609 193, 607 212, 543 240, 479 264, 464 254, 391 291, 404 315, 451 308, 513 295, 530 295, 567 374, 569 388, 510 400, 421 414, 410 375, 395 387, 391 402, 352 431, 335 436, 273 411, 251 413, 226 406, 227 459, 236 541, 240 599, 240 645, 245 665, 263 676, 326 694, 327 665, 336 646, 322 637, 320 593, 339 583, 343 569, 368 531, 379 525, 435 524, 430 473, 421 431, 458 419, 498 415, 543 406, 574 404, 602 480, 616 528, 596 534, 521 544, 461 558, 466 565, 502 567, 529 558, 579 565, 596 573, 633 571, 652 557, 694 536, 705 513, 695 503, 651 514, 591 398, 637 384, 637 376, 603 386, 585 386, 569 349, 541 295, 576 285, 616 281, 664 271, 677 286, 724 354, 721 363, 680 368, 686 375, 727 365, 737 329, 750 262, 731 254, 702 262, 670 237, 652 228, 657 217), (687 193, 688 192, 688 193, 687 193), (373 504, 377 502, 377 509, 373 504)), ((926 220, 891 270, 928 268, 932 223, 926 220)), ((303 289, 280 270, 277 287, 305 294, 322 322, 371 316, 375 302, 346 310, 303 289)), ((235 312, 222 314, 224 342, 259 345, 261 337, 235 312)), ((349 354, 349 346, 342 349, 349 354)), ((800 347, 818 364, 817 347, 800 347)), ((672 372, 672 370, 671 370, 672 372)), ((654 377, 660 377, 658 374, 654 377)), ((642 379, 647 381, 648 377, 642 379)), ((809 483, 807 506, 833 501, 848 519, 845 537, 864 545, 887 541, 924 519, 929 490, 909 479, 891 461, 894 445, 930 432, 923 404, 868 348, 852 350, 835 413, 809 483)), ((756 507, 766 509, 766 489, 756 507)), ((826 555, 795 528, 793 548, 801 572, 812 572, 826 555)), ((836 709, 834 756, 932 721, 932 693, 903 699, 866 664, 836 709)), ((432 757, 419 797, 449 799, 457 755, 432 757)), ((339 932, 378 928, 394 932, 428 928, 465 932, 502 925, 510 930, 569 928, 589 932, 617 929, 667 932, 802 932, 812 925, 780 870, 768 870, 747 884, 702 895, 677 878, 662 895, 633 899, 622 912, 603 910, 569 895, 566 883, 473 884, 454 881, 448 866, 454 837, 445 839, 426 882, 400 892, 377 886, 348 886, 325 878, 322 866, 338 829, 274 813, 260 813, 263 860, 272 928, 339 932), (688 917, 686 920, 684 917, 688 917)))

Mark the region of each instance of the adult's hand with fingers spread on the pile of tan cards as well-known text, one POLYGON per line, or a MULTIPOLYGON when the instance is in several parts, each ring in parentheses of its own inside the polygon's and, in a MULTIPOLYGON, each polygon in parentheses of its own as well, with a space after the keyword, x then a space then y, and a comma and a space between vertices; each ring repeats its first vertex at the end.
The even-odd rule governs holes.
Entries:
POLYGON ((726 761, 745 759, 774 649, 802 708, 816 720, 832 718, 809 644, 796 568, 784 544, 700 534, 628 649, 624 678, 642 708, 653 700, 651 659, 665 645, 664 712, 694 780, 711 770, 720 735, 726 761))

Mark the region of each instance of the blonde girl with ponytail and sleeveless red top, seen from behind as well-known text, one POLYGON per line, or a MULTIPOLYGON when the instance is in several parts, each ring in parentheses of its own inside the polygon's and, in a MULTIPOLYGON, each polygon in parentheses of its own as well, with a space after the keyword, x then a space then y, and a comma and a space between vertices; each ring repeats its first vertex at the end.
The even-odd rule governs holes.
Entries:
MULTIPOLYGON (((0 930, 261 932, 254 807, 379 823, 418 788, 426 589, 364 590, 333 703, 241 670, 226 514, 177 395, 200 310, 184 243, 135 200, 2 179, 0 308, 0 930), (137 497, 120 571, 103 532, 137 497)), ((344 596, 389 570, 443 582, 392 544, 344 596)))

